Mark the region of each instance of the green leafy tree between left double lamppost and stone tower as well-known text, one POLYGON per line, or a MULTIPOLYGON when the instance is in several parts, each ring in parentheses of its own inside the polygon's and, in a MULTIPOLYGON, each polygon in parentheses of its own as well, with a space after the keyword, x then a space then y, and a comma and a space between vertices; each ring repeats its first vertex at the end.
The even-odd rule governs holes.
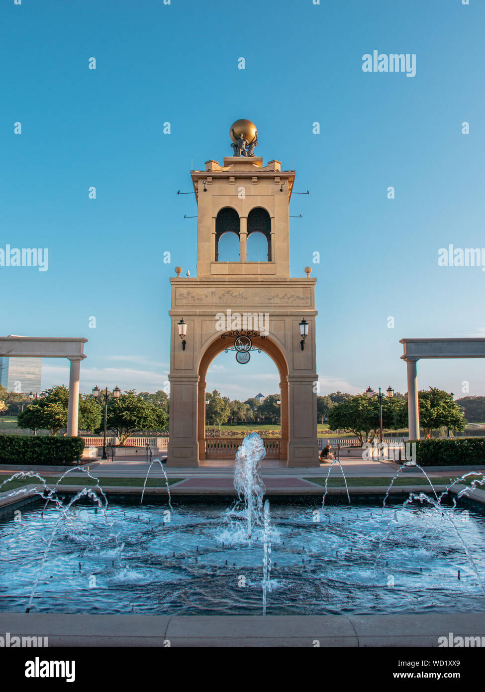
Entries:
MULTIPOLYGON (((104 401, 98 404, 101 409, 104 401)), ((107 428, 116 433, 120 445, 124 446, 130 435, 140 430, 163 430, 167 425, 167 413, 161 406, 155 406, 138 397, 135 390, 127 390, 118 399, 108 401, 107 428)))

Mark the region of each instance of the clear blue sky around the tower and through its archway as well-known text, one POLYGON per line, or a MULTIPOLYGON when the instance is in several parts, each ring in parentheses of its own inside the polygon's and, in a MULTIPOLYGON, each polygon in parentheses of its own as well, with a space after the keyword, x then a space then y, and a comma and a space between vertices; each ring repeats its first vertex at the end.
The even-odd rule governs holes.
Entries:
MULTIPOLYGON (((0 247, 47 247, 48 271, 3 267, 3 334, 86 336, 82 390, 167 379, 174 267, 195 275, 190 167, 257 154, 297 171, 291 273, 312 253, 321 393, 405 391, 403 337, 485 336, 485 273, 438 250, 485 247, 485 3, 470 0, 4 0, 0 247), (415 53, 417 74, 363 55, 415 53), (95 57, 97 69, 88 69, 95 57), (244 57, 246 69, 237 69, 244 57), (21 122, 22 134, 13 134, 21 122), (170 121, 172 133, 163 134, 170 121), (321 134, 312 134, 320 122, 321 134), (461 123, 470 134, 461 134, 461 123), (88 199, 95 185, 97 199, 88 199), (396 198, 387 199, 387 188, 396 198), (163 264, 170 251, 172 263, 163 264), (96 328, 89 329, 95 316, 96 328), (394 329, 387 318, 394 317, 394 329)), ((485 394, 483 361, 419 363, 420 388, 485 394)), ((44 386, 67 383, 44 361, 44 386)), ((219 356, 208 388, 277 391, 266 356, 219 356)))

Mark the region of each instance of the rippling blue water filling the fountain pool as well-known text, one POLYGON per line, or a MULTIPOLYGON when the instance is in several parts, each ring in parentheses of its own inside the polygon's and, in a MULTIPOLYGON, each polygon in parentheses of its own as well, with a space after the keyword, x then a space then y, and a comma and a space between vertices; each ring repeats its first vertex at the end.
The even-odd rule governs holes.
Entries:
MULTIPOLYGON (((44 518, 37 507, 22 508, 21 521, 0 523, 0 609, 25 610, 57 525, 32 612, 261 614, 262 530, 248 541, 244 518, 221 504, 175 509, 170 516, 149 498, 142 507, 110 502, 110 526, 87 504, 61 519, 53 506, 44 518)), ((419 503, 383 512, 377 505, 329 504, 320 511, 313 500, 271 503, 266 613, 485 610, 446 518, 451 511, 441 516, 419 503)), ((484 515, 457 509, 453 517, 485 581, 484 515)))

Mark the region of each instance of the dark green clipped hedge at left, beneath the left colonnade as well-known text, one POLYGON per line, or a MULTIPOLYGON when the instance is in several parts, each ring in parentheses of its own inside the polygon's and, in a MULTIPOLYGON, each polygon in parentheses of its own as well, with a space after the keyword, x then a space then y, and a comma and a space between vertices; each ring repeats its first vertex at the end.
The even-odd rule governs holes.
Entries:
POLYGON ((68 466, 80 460, 83 449, 82 437, 0 435, 0 464, 68 466))

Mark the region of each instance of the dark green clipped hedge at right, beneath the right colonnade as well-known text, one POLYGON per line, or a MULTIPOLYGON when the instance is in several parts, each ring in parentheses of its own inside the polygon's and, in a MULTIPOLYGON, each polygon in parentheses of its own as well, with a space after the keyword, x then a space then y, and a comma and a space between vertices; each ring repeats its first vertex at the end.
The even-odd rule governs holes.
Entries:
POLYGON ((411 442, 416 443, 416 462, 419 466, 485 464, 485 439, 483 437, 459 437, 455 439, 433 437, 432 439, 415 439, 411 442))

